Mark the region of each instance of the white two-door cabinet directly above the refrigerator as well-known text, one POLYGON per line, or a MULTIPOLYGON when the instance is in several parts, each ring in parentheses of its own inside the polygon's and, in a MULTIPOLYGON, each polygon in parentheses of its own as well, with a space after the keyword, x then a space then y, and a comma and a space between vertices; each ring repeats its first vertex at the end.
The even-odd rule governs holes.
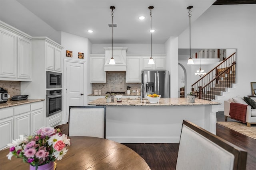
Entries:
POLYGON ((155 64, 148 64, 150 55, 142 57, 142 70, 166 70, 166 55, 152 55, 155 64))

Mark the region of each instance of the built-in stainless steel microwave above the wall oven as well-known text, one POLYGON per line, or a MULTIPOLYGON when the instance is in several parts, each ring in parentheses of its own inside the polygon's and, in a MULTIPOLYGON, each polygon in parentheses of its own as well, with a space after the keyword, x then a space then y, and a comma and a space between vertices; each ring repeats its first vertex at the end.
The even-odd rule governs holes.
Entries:
POLYGON ((46 71, 46 88, 62 88, 62 73, 46 71))

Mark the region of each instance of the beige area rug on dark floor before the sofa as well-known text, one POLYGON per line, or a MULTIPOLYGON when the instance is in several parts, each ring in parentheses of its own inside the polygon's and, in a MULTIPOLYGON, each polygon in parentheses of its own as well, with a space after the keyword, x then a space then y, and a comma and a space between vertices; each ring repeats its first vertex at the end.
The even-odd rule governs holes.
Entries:
POLYGON ((251 125, 251 127, 247 127, 244 123, 228 121, 217 121, 217 123, 234 131, 242 133, 243 135, 256 139, 256 125, 251 125))

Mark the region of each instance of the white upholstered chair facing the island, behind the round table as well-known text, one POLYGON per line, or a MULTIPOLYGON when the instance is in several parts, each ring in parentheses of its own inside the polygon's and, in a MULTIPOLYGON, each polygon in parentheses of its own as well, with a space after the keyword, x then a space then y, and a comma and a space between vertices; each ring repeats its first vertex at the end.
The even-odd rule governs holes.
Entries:
POLYGON ((68 136, 106 138, 106 106, 70 106, 68 136))

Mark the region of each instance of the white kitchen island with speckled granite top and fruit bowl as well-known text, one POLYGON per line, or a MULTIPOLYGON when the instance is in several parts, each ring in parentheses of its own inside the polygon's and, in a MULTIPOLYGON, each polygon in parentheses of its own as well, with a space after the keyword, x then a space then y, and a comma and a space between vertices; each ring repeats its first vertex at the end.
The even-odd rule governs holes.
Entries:
POLYGON ((106 138, 119 143, 179 143, 182 120, 216 133, 218 102, 186 98, 160 98, 156 104, 148 100, 106 103, 99 98, 90 105, 106 107, 106 138))

